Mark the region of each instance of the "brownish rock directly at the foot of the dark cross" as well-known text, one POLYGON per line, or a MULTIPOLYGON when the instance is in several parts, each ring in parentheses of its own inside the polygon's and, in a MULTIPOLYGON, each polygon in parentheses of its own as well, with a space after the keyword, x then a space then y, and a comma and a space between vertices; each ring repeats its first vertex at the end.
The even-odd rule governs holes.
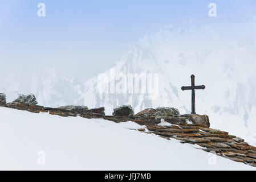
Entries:
POLYGON ((188 118, 194 125, 201 125, 204 127, 210 127, 210 121, 208 115, 199 114, 184 114, 181 117, 188 118))

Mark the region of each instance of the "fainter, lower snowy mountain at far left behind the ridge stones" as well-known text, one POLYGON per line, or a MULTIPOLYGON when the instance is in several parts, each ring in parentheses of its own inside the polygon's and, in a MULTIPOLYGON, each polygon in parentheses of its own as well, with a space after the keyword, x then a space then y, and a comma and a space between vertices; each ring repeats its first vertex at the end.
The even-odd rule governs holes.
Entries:
POLYGON ((73 104, 82 94, 83 84, 58 75, 54 65, 27 73, 22 69, 14 68, 0 79, 0 92, 6 93, 7 102, 18 94, 34 93, 39 105, 62 106, 73 104))

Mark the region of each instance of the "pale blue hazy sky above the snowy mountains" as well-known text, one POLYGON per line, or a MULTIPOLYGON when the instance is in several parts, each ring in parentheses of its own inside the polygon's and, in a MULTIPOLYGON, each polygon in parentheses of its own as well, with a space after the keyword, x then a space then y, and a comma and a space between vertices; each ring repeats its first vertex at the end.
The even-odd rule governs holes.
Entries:
POLYGON ((137 40, 170 23, 247 22, 256 1, 0 1, 0 62, 42 67, 55 64, 67 77, 83 79, 111 68, 137 40), (46 5, 46 17, 37 5, 46 5), (208 16, 209 3, 217 17, 208 16), (72 70, 72 71, 70 71, 72 70), (79 75, 80 74, 80 75, 79 75))

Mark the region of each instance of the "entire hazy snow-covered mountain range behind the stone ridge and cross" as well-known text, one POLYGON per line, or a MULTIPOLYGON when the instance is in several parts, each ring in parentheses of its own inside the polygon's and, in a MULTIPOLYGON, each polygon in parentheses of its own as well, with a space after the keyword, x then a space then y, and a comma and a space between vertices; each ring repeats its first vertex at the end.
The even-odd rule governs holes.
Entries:
POLYGON ((196 90, 197 113, 209 115, 212 127, 255 146, 255 29, 255 22, 170 25, 141 38, 113 68, 85 83, 59 76, 53 67, 26 78, 15 71, 0 83, 8 92, 34 93, 46 106, 104 106, 107 114, 118 105, 130 104, 135 113, 172 106, 189 113, 191 93, 180 88, 189 86, 194 74, 196 85, 206 86, 196 90))

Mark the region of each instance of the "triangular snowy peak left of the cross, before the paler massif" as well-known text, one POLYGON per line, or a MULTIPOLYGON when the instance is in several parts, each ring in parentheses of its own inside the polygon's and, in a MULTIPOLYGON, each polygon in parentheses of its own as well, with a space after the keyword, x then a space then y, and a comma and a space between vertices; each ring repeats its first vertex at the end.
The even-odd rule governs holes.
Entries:
POLYGON ((162 73, 151 50, 139 45, 122 57, 114 68, 88 80, 84 88, 78 101, 82 100, 89 107, 105 106, 108 114, 112 113, 113 107, 124 104, 132 105, 138 112, 147 107, 178 105, 180 102, 177 88, 162 73), (102 84, 101 78, 107 80, 102 84), (124 89, 119 89, 120 83, 124 83, 121 84, 125 85, 124 89), (103 88, 101 92, 100 88, 103 88))

